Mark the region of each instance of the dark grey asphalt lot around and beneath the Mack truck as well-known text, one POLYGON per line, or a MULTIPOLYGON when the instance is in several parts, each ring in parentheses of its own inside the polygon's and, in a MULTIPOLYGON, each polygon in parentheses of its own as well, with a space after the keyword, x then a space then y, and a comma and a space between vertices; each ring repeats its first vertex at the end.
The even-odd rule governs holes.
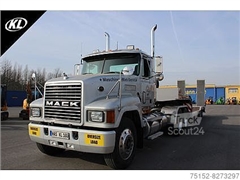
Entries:
MULTIPOLYGON (((58 157, 42 154, 28 136, 21 107, 9 108, 1 122, 3 170, 110 170, 101 155, 66 151, 58 157)), ((144 141, 129 170, 239 170, 240 106, 208 105, 199 126, 182 136, 144 141)))

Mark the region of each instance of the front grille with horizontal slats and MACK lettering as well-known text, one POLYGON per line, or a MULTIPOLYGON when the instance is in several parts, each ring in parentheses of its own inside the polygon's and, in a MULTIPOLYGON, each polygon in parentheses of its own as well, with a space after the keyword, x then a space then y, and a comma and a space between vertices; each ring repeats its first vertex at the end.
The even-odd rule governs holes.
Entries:
POLYGON ((81 91, 81 83, 46 85, 45 119, 81 122, 81 91))

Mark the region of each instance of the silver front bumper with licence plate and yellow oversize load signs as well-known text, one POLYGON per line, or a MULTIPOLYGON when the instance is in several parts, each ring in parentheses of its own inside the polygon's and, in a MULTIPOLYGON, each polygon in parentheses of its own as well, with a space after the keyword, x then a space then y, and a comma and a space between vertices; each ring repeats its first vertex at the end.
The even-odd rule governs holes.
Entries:
POLYGON ((97 154, 112 153, 115 146, 115 131, 95 131, 28 124, 32 141, 58 148, 97 154))

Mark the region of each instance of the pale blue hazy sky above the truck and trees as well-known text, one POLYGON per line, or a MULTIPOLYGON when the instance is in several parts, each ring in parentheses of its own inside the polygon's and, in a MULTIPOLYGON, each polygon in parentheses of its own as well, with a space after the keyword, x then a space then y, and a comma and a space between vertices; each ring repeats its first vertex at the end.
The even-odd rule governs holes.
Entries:
POLYGON ((74 64, 93 50, 134 44, 150 54, 150 30, 157 24, 155 54, 163 56, 163 85, 240 84, 240 11, 47 11, 1 57, 29 69, 74 64))

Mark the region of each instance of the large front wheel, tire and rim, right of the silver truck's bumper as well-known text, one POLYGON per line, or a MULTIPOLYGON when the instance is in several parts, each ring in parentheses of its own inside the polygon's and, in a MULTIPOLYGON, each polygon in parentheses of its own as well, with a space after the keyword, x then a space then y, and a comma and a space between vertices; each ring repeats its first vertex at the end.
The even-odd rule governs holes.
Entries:
POLYGON ((134 159, 136 144, 135 125, 131 119, 123 118, 116 130, 114 151, 104 155, 105 163, 112 169, 126 169, 134 159))

